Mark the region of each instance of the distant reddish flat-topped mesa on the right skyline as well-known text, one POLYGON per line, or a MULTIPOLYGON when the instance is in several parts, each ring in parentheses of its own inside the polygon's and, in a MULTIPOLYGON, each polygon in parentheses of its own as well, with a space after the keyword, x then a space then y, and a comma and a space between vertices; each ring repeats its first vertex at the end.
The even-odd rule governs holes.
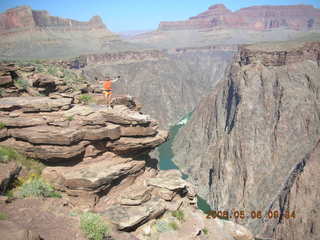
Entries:
POLYGON ((311 5, 265 5, 241 8, 232 12, 223 4, 216 4, 188 20, 159 24, 159 30, 164 31, 212 28, 245 28, 258 31, 275 28, 320 29, 320 9, 311 5))

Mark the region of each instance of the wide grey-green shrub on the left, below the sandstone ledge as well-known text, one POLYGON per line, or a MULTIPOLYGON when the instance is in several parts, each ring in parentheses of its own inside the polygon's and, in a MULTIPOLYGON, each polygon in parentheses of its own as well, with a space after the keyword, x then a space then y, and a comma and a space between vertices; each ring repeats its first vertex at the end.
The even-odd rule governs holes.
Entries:
POLYGON ((33 177, 17 188, 15 194, 18 197, 46 197, 61 198, 61 195, 54 191, 48 183, 39 177, 33 177))

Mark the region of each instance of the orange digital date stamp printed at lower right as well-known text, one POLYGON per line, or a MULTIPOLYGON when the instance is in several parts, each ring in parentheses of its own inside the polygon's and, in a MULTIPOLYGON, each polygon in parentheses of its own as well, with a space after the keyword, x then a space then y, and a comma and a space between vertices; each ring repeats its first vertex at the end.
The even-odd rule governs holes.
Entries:
POLYGON ((252 218, 252 219, 262 219, 262 218, 269 218, 269 219, 275 219, 284 217, 286 219, 295 218, 296 213, 295 211, 284 211, 281 213, 278 210, 269 211, 266 214, 263 214, 262 211, 244 211, 244 210, 235 210, 235 211, 209 211, 207 212, 207 218, 223 218, 223 219, 231 219, 231 218, 239 218, 239 219, 245 219, 245 218, 252 218))

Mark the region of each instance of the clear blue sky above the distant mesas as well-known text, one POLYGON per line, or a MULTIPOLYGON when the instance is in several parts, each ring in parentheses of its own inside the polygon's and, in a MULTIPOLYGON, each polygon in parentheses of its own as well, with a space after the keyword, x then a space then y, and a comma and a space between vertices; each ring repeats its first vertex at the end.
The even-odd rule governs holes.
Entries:
POLYGON ((156 29, 160 21, 184 20, 209 6, 224 3, 231 10, 252 5, 310 4, 320 8, 320 0, 0 0, 0 12, 21 5, 48 10, 52 16, 87 21, 100 15, 113 32, 156 29))

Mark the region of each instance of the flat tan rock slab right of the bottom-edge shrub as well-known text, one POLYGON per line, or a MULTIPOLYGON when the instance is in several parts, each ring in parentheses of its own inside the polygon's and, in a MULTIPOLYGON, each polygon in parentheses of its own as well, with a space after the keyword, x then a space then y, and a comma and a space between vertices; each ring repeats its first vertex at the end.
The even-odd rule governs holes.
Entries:
POLYGON ((165 211, 160 199, 152 199, 141 206, 126 207, 114 205, 102 214, 118 226, 119 230, 132 230, 142 223, 156 218, 165 211))

